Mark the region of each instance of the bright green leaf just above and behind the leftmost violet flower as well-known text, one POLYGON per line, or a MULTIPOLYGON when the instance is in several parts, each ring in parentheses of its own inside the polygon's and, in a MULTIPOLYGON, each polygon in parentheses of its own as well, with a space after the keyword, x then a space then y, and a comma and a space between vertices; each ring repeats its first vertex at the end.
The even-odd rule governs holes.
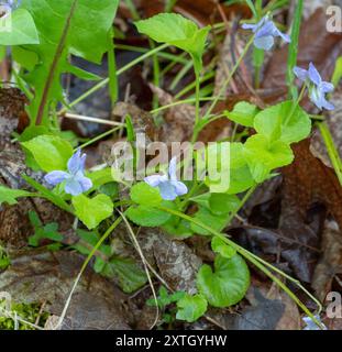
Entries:
POLYGON ((22 146, 29 150, 40 167, 46 172, 64 170, 73 155, 73 146, 69 142, 56 135, 38 135, 22 146))

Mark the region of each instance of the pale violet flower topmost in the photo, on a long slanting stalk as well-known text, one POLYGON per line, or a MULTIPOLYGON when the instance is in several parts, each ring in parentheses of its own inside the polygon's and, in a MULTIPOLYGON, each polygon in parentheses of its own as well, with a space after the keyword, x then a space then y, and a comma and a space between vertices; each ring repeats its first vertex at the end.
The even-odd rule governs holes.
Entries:
POLYGON ((276 36, 280 36, 284 42, 290 43, 290 37, 287 34, 282 33, 273 21, 269 20, 267 15, 265 15, 258 23, 256 24, 242 24, 244 30, 252 30, 255 34, 254 36, 254 45, 257 48, 262 48, 264 51, 269 51, 274 45, 274 38, 276 36))

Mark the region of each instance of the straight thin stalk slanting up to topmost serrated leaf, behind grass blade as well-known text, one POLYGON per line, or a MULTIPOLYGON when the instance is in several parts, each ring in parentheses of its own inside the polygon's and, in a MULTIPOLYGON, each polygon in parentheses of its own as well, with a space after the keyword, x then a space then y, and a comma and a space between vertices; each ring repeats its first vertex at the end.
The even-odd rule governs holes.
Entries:
MULTIPOLYGON (((157 46, 156 48, 154 48, 153 51, 147 52, 146 54, 133 59, 132 62, 130 62, 128 65, 121 67, 120 69, 118 69, 117 75, 120 76, 122 75, 124 72, 126 72, 128 69, 132 68, 133 66, 135 66, 136 64, 143 62, 144 59, 146 59, 147 57, 153 56, 155 53, 158 53, 161 51, 163 51, 164 48, 166 48, 168 46, 168 44, 162 44, 159 46, 157 46)), ((104 87, 106 85, 108 85, 109 82, 109 78, 104 78, 103 80, 101 80, 99 84, 97 84, 96 86, 93 86, 92 88, 90 88, 89 90, 87 90, 85 94, 82 94, 80 97, 78 97, 77 99, 75 99, 73 102, 70 102, 68 105, 67 108, 63 108, 58 114, 63 114, 65 112, 67 112, 68 108, 73 108, 76 105, 78 105, 80 101, 85 100, 86 98, 88 98, 89 96, 91 96, 93 92, 98 91, 99 89, 101 89, 102 87, 104 87)))

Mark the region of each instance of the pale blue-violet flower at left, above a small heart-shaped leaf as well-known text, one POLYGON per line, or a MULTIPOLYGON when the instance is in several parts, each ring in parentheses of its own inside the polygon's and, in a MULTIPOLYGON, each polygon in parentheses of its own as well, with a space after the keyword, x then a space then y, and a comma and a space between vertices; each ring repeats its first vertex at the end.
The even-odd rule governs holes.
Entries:
POLYGON ((68 172, 55 170, 45 175, 45 180, 56 186, 65 182, 65 193, 78 196, 92 187, 91 179, 85 176, 86 154, 78 150, 68 161, 68 172))

